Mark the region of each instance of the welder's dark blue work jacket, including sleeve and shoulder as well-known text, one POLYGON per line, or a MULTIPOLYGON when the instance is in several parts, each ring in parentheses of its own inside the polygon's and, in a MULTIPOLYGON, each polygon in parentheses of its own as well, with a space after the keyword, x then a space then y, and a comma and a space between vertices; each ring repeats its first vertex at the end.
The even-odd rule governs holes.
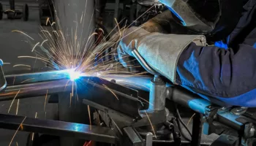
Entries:
POLYGON ((256 0, 244 5, 226 40, 207 47, 191 43, 178 60, 177 82, 210 101, 256 107, 256 0))

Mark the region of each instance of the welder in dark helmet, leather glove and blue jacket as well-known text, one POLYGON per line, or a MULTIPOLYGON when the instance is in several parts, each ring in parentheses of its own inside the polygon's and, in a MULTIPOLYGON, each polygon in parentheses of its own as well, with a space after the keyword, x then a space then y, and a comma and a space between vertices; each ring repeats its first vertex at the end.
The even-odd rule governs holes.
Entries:
POLYGON ((173 84, 210 101, 256 107, 256 0, 159 2, 168 11, 123 32, 121 64, 138 64, 136 49, 173 84))

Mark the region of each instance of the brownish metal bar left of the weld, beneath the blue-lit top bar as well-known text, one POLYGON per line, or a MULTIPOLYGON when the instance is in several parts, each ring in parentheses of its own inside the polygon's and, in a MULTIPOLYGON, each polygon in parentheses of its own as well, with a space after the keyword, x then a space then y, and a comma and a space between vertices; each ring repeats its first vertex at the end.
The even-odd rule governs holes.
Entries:
POLYGON ((55 93, 72 92, 72 83, 69 80, 53 80, 48 82, 37 82, 23 85, 7 86, 5 91, 0 93, 0 101, 12 99, 24 99, 36 96, 45 96, 55 93))

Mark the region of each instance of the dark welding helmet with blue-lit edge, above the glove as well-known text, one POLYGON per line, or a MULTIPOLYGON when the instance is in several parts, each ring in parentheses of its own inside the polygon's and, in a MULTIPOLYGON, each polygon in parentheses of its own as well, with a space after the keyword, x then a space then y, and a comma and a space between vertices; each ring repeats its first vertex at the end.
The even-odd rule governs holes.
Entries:
POLYGON ((212 38, 227 36, 241 17, 243 0, 159 0, 183 26, 212 38))

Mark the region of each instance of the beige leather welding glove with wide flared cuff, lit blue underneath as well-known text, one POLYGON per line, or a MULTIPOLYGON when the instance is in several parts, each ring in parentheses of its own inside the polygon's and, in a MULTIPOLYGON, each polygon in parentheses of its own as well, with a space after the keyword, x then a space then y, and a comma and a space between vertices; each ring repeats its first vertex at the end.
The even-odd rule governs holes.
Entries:
POLYGON ((138 27, 128 28, 123 36, 117 47, 121 64, 133 65, 129 58, 136 49, 151 68, 173 83, 176 83, 176 66, 182 51, 191 42, 206 45, 206 38, 202 35, 149 33, 138 27))

